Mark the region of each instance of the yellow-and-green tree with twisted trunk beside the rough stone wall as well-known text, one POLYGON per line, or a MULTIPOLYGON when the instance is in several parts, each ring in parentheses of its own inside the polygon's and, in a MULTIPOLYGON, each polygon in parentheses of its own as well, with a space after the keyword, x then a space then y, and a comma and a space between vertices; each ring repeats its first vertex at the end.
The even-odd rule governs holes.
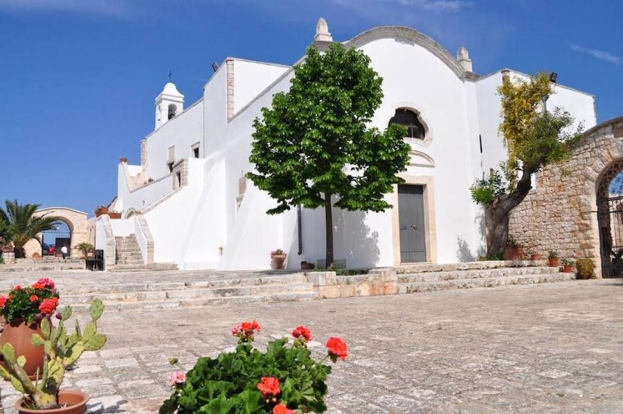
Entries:
POLYGON ((500 134, 507 146, 508 160, 488 179, 471 186, 471 197, 485 207, 487 255, 501 255, 508 240, 509 213, 532 188, 530 176, 545 165, 566 161, 573 145, 581 139, 580 124, 563 109, 543 108, 554 85, 547 73, 530 82, 503 79, 498 88, 502 98, 500 134))

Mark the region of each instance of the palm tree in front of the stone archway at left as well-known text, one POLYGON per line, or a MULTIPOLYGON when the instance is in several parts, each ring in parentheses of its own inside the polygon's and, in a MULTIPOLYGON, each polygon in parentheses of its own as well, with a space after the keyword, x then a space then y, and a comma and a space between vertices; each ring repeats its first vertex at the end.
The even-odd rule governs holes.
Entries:
POLYGON ((47 230, 54 230, 58 217, 42 215, 36 216, 35 211, 41 204, 19 204, 17 200, 6 200, 6 208, 0 208, 0 221, 8 224, 12 233, 12 242, 15 246, 15 258, 24 258, 26 251, 24 246, 28 240, 35 239, 41 244, 39 233, 47 230))

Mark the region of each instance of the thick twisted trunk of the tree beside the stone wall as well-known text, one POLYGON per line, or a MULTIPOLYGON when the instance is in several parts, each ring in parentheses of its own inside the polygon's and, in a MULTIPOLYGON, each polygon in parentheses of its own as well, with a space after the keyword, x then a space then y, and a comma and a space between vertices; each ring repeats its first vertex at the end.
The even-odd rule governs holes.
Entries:
POLYGON ((498 195, 491 206, 485 208, 487 228, 487 256, 504 255, 508 240, 510 212, 518 206, 532 188, 530 172, 524 171, 514 191, 498 195))

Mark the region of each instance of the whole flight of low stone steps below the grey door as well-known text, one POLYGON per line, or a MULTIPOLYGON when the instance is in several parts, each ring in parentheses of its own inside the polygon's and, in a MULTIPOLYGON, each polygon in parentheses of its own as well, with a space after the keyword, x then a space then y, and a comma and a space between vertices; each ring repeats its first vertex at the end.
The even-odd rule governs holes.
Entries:
POLYGON ((545 266, 544 261, 414 264, 397 267, 396 271, 399 294, 575 279, 575 273, 561 273, 558 267, 545 266))

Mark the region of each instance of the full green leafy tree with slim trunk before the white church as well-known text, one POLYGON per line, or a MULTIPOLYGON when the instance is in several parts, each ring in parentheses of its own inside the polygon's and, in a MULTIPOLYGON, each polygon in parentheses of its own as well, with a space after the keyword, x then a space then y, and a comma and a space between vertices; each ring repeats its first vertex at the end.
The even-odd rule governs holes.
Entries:
POLYGON ((386 210, 384 196, 403 182, 397 174, 409 159, 406 129, 367 126, 381 105, 382 81, 361 51, 309 47, 289 91, 273 96, 272 108, 253 122, 249 161, 256 172, 247 177, 276 199, 268 214, 298 204, 325 208, 327 267, 334 261, 332 206, 386 210))

